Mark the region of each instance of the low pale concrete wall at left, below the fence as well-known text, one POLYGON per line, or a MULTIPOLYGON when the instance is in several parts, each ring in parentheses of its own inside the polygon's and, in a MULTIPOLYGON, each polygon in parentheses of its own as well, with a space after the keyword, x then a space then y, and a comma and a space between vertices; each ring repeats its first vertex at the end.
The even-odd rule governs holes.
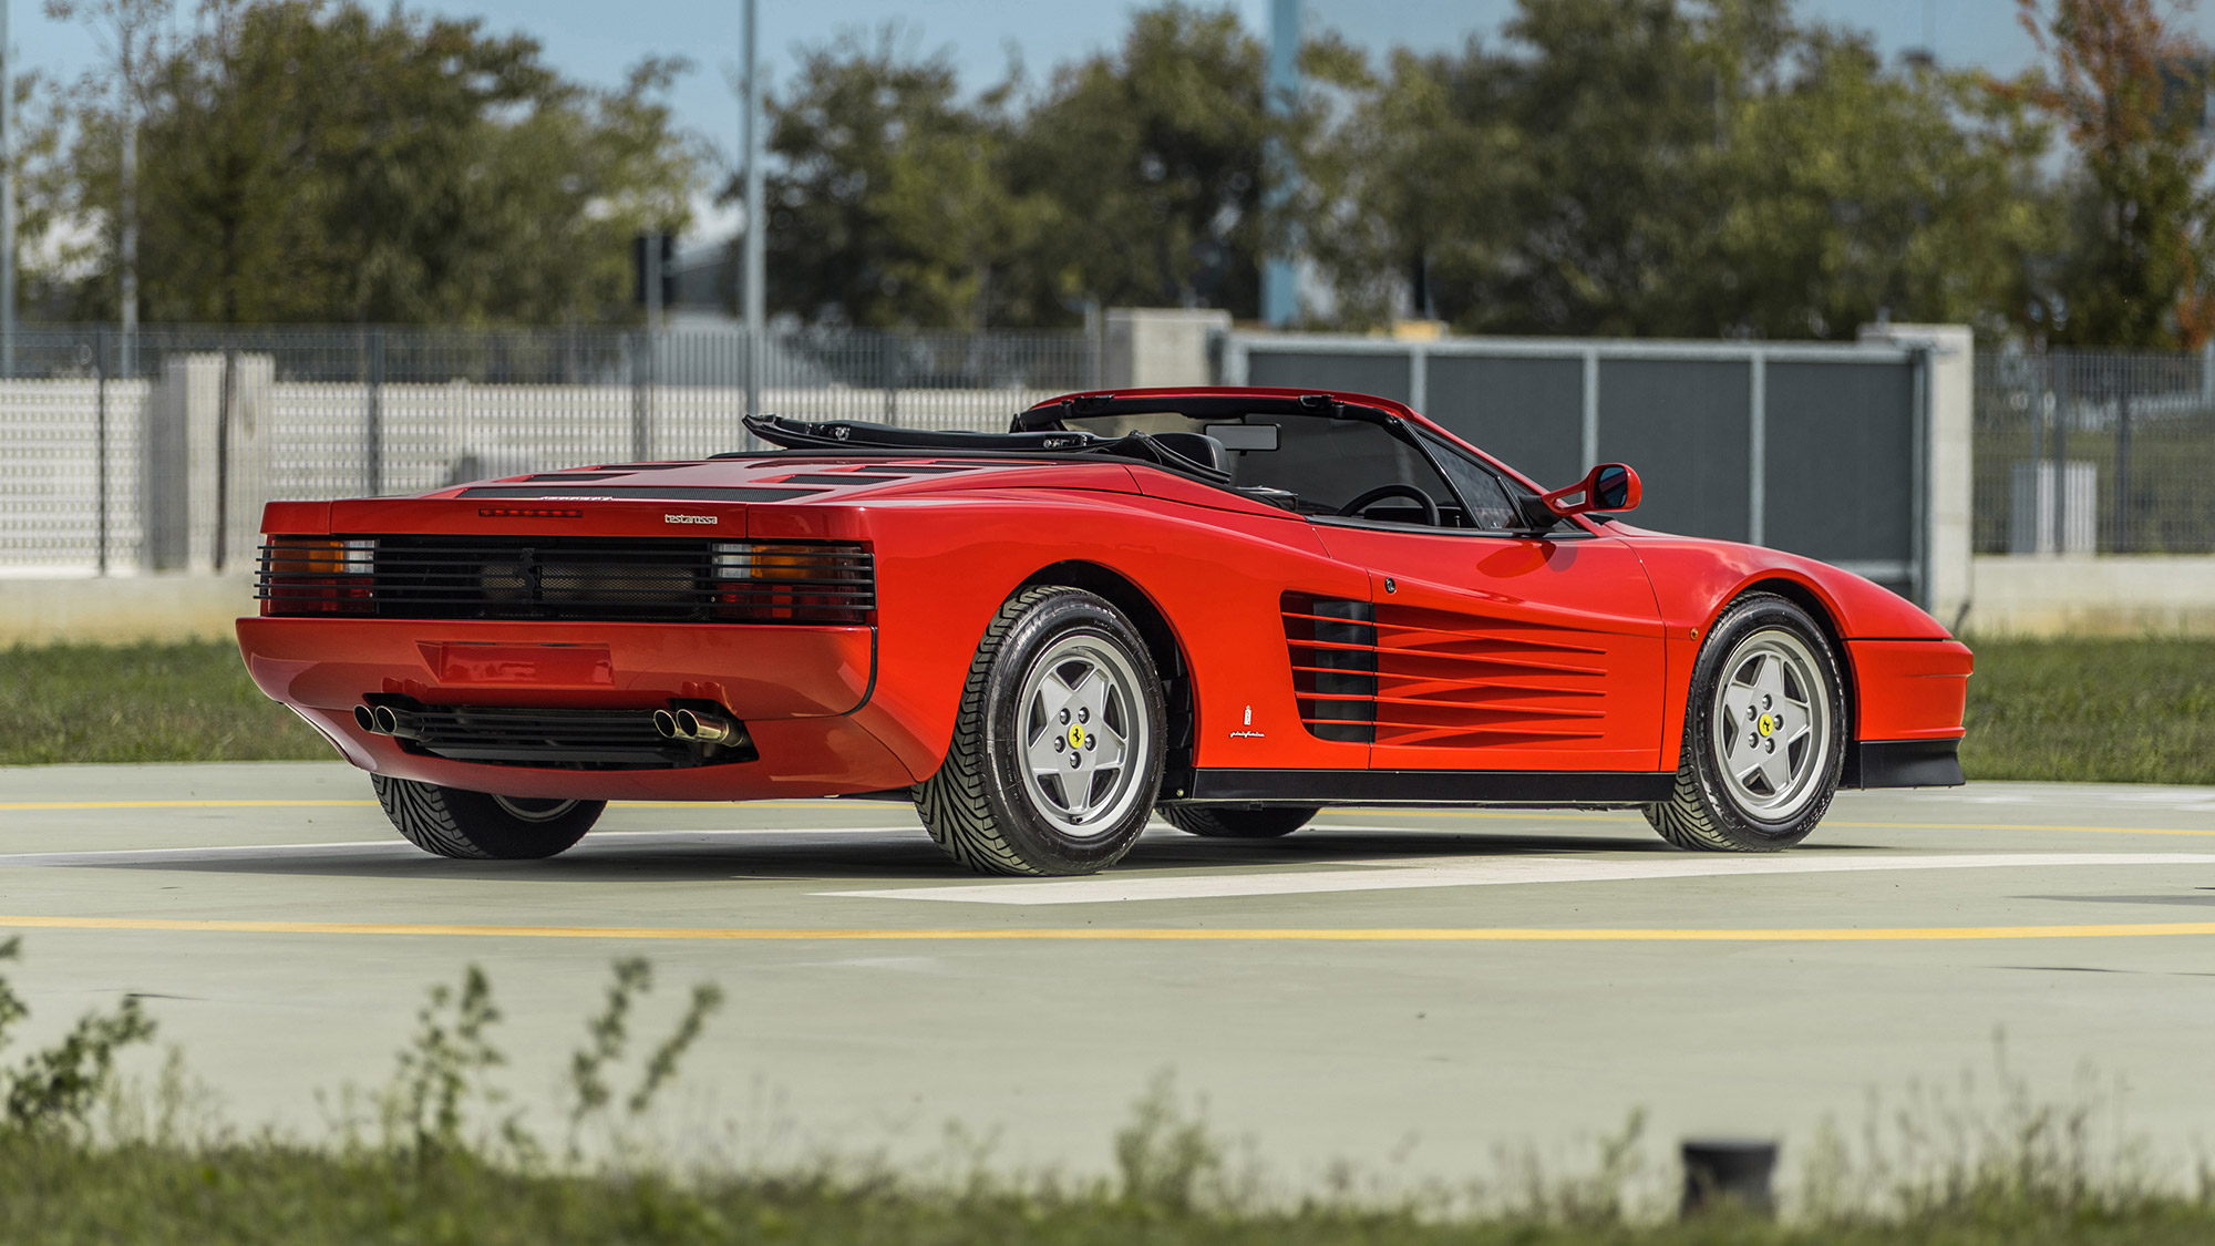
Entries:
POLYGON ((250 574, 0 579, 0 645, 226 641, 255 610, 250 574))

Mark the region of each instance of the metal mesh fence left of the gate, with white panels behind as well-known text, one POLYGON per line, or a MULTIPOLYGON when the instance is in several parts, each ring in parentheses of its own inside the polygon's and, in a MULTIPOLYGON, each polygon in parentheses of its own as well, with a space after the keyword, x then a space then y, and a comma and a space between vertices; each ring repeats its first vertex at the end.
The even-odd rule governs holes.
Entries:
POLYGON ((990 428, 1099 384, 1081 333, 109 328, 0 355, 0 574, 250 556, 270 499, 744 448, 760 410, 990 428))

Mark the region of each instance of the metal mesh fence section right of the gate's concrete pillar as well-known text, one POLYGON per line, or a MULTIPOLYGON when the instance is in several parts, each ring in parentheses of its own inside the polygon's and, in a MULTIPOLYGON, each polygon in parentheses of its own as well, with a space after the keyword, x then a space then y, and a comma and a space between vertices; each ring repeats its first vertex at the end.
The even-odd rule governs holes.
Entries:
POLYGON ((2215 552, 2215 368, 2173 350, 1976 359, 1976 552, 2215 552))

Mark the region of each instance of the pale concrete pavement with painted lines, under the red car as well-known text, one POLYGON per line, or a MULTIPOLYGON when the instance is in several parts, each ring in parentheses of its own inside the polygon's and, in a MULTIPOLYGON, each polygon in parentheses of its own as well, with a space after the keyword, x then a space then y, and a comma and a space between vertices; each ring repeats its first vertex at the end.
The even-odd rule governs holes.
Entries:
MULTIPOLYGON (((1637 816, 1331 811, 1276 842, 1156 827, 1112 874, 981 880, 899 805, 618 805, 547 862, 399 842, 341 765, 0 769, 0 936, 51 1035, 144 993, 237 1122, 379 1084, 481 962, 507 1084, 556 1091, 607 962, 731 1004, 669 1137, 1099 1171, 1161 1069, 1271 1168, 1491 1171, 1630 1109, 1655 1137, 1807 1140, 1867 1093, 2120 1080, 2215 1142, 2215 789, 1843 794, 1801 849, 1668 849, 1637 816), (4 929, 16 927, 16 929, 4 929)), ((1799 1142, 1794 1142, 1799 1144, 1799 1142)))

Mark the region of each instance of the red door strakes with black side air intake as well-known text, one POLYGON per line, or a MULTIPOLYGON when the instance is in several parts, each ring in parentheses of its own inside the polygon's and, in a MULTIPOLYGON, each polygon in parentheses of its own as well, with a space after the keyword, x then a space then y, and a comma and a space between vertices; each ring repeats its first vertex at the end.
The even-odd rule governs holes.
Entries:
POLYGON ((1606 652, 1515 619, 1285 594, 1300 721, 1325 741, 1550 747, 1601 738, 1606 652))

